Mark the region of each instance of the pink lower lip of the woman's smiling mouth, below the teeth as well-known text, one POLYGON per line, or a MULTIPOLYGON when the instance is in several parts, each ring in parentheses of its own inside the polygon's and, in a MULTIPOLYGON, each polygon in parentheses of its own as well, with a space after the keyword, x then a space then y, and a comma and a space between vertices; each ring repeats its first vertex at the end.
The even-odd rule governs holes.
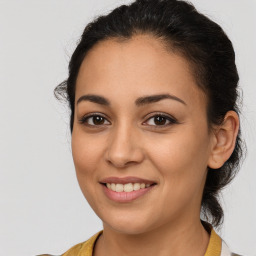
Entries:
POLYGON ((131 201, 136 200, 139 197, 142 197, 146 193, 148 193, 153 187, 150 186, 148 188, 141 188, 139 190, 134 190, 132 192, 115 192, 109 188, 107 188, 105 185, 103 186, 103 191, 105 195, 112 201, 118 202, 118 203, 128 203, 131 201))

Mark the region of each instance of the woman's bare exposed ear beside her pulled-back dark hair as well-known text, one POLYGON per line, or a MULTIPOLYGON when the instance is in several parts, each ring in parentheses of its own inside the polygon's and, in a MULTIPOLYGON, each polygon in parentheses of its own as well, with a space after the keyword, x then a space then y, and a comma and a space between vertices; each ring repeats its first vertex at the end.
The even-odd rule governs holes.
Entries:
POLYGON ((221 125, 214 128, 208 167, 220 168, 231 156, 236 145, 239 117, 235 111, 228 111, 221 125))

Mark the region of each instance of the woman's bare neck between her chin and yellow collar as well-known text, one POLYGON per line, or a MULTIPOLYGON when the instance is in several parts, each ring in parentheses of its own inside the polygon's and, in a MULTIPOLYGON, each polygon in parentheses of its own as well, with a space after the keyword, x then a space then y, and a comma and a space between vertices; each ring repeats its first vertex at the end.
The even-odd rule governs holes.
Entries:
POLYGON ((143 234, 124 234, 104 225, 94 256, 203 256, 209 243, 209 234, 201 221, 181 225, 165 225, 143 234))

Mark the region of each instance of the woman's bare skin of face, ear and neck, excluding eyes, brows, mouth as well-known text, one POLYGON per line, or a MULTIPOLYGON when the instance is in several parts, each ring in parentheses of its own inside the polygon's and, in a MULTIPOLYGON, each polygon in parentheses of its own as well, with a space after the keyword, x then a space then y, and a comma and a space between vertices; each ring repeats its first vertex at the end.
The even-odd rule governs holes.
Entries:
POLYGON ((209 234, 200 222, 207 166, 220 167, 235 145, 235 112, 220 127, 209 129, 207 98, 183 57, 167 52, 149 35, 120 42, 99 42, 85 57, 77 78, 72 153, 81 190, 103 221, 104 233, 94 255, 204 255, 209 234), (139 97, 169 94, 137 106, 139 97), (90 113, 102 116, 103 123, 90 113), (158 125, 162 113, 177 120, 158 125), (110 176, 135 176, 157 183, 129 203, 113 202, 99 183, 110 176))

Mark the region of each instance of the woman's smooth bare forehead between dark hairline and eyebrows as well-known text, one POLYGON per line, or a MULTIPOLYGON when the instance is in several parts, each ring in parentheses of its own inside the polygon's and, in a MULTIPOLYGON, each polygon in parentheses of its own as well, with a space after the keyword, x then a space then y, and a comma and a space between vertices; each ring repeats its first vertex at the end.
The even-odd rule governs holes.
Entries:
POLYGON ((108 39, 88 52, 79 70, 76 97, 100 92, 111 97, 113 90, 126 97, 171 93, 185 101, 205 96, 190 63, 150 35, 108 39))

